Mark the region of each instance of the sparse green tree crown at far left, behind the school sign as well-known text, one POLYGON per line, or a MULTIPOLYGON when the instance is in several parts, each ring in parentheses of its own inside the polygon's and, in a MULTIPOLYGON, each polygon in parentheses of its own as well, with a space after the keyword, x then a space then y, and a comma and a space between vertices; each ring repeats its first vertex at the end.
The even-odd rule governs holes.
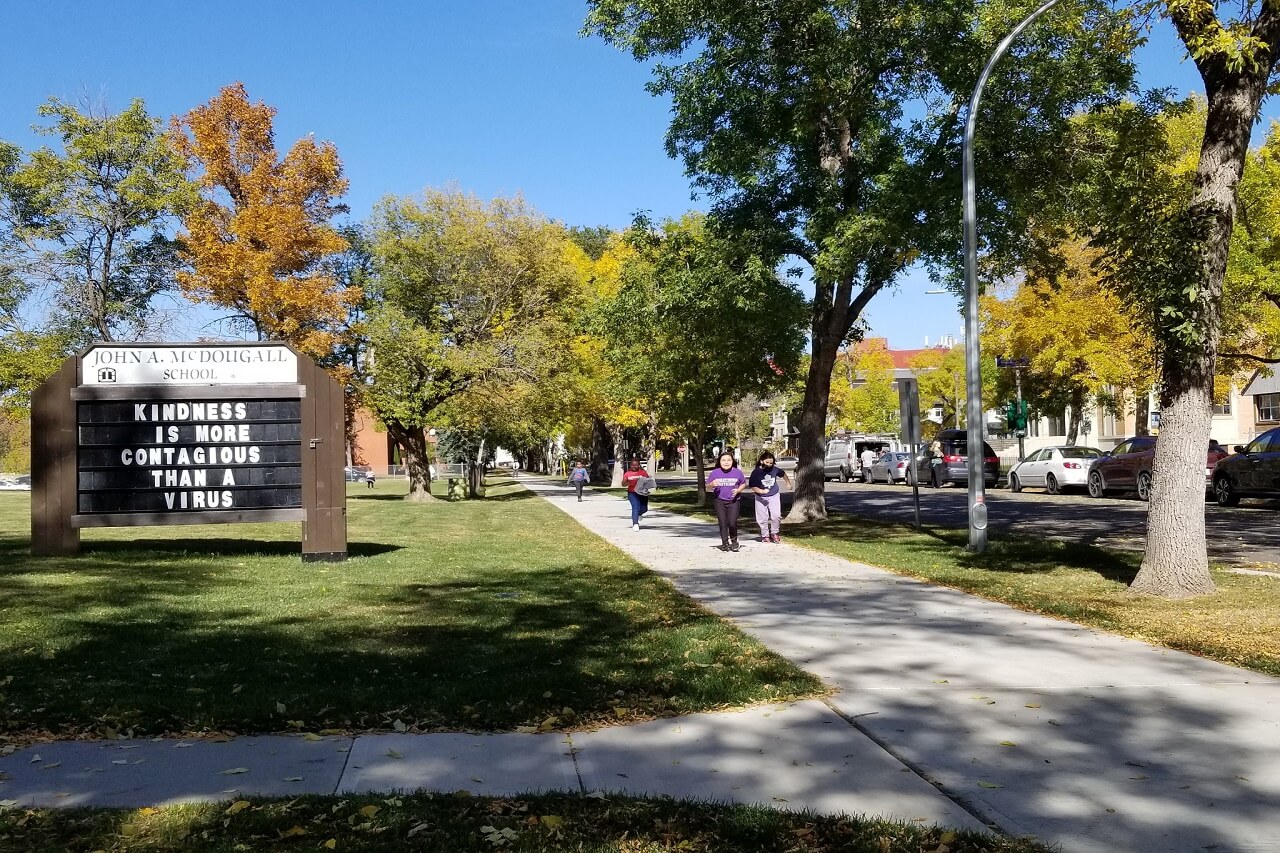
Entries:
POLYGON ((50 99, 38 113, 49 123, 37 132, 58 137, 60 151, 19 161, 0 143, 0 302, 9 311, 44 296, 44 328, 73 346, 137 338, 174 283, 165 232, 193 199, 182 160, 141 100, 111 115, 50 99))

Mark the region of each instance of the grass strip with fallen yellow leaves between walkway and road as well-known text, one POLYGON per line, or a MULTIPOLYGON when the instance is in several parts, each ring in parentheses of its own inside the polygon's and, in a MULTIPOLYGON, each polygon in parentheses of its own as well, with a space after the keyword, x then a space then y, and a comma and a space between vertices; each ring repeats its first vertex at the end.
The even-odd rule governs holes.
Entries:
MULTIPOLYGON (((692 488, 664 488, 654 506, 710 515, 692 488)), ((754 530, 754 523, 745 529, 754 530)), ((986 553, 965 549, 964 528, 893 525, 832 512, 826 524, 787 525, 783 535, 847 560, 977 593, 1125 637, 1280 675, 1280 578, 1213 569, 1219 592, 1188 601, 1135 596, 1128 584, 1142 555, 1087 544, 992 535, 986 553)))

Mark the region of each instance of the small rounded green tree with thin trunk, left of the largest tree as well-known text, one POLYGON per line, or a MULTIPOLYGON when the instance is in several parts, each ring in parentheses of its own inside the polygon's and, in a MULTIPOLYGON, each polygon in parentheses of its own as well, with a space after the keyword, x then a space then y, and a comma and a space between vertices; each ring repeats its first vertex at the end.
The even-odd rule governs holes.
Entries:
POLYGON ((767 255, 701 214, 627 232, 635 255, 602 305, 605 357, 653 424, 687 435, 705 482, 703 439, 726 405, 765 396, 795 368, 804 302, 767 255))

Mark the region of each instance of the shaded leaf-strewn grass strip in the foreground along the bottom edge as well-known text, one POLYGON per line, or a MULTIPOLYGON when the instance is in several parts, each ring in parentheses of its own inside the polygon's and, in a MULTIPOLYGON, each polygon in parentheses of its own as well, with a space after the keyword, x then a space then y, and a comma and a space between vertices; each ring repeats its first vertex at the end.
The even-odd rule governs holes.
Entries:
POLYGON ((63 850, 584 850, 1047 853, 910 824, 672 799, 547 794, 303 797, 137 811, 0 811, 0 847, 63 850))

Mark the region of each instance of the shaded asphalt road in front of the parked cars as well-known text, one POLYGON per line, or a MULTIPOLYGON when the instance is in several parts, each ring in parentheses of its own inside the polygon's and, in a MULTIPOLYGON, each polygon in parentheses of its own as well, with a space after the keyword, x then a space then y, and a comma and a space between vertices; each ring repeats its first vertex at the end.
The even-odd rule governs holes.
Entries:
MULTIPOLYGON (((692 485, 692 478, 663 478, 664 483, 692 485)), ((920 489, 920 521, 964 526, 964 487, 920 489)), ((992 532, 1036 533, 1075 542, 1140 551, 1146 544, 1147 505, 1137 498, 1091 498, 1084 493, 1044 494, 1007 489, 987 491, 992 532)), ((1280 525, 1274 501, 1245 501, 1224 508, 1206 502, 1210 557, 1240 566, 1280 566, 1280 525)), ((911 489, 905 485, 827 483, 827 508, 869 519, 910 523, 911 489)))

